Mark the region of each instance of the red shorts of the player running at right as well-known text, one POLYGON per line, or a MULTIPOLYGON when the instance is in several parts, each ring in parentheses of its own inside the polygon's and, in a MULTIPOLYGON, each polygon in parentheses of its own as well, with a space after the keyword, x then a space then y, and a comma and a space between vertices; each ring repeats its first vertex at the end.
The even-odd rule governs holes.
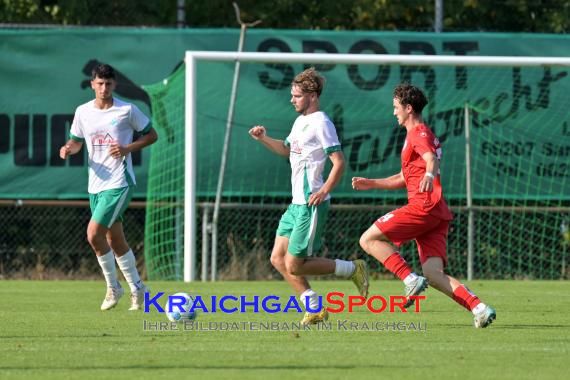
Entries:
POLYGON ((408 206, 396 209, 380 217, 374 224, 396 246, 415 240, 420 263, 430 257, 441 257, 447 266, 447 232, 449 221, 432 215, 418 215, 408 206))

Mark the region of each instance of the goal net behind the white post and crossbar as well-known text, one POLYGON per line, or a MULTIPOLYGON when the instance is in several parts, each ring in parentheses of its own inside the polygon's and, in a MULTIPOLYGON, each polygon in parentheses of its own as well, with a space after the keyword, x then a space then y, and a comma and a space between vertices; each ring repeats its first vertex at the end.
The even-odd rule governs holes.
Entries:
MULTIPOLYGON (((321 109, 347 161, 322 255, 365 256, 361 233, 405 204, 403 190, 356 192, 350 184, 353 176, 399 172, 405 130, 393 116, 392 91, 410 82, 428 96, 424 121, 443 147, 443 189, 455 214, 449 270, 475 278, 568 277, 569 59, 188 52, 185 66, 146 87, 160 136, 145 227, 151 279, 279 278, 269 255, 291 198, 290 168, 248 130, 264 125, 271 137, 287 137, 297 116, 290 83, 309 66, 326 78, 321 109), (208 236, 236 59, 240 80, 212 261, 208 236)), ((414 244, 401 252, 419 266, 414 244)), ((375 275, 386 275, 366 259, 375 275)))

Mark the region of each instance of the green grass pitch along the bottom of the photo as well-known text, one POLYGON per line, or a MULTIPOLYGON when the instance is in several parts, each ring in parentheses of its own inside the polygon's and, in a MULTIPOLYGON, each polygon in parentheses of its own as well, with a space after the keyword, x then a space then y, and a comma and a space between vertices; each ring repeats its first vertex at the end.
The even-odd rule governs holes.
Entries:
MULTIPOLYGON (((284 282, 149 284, 154 292, 190 291, 209 301, 226 294, 288 297, 284 282)), ((570 351, 570 283, 473 281, 498 319, 474 329, 471 314, 429 289, 419 314, 331 314, 331 320, 421 322, 425 331, 143 331, 166 321, 154 309, 99 311, 102 282, 0 281, 0 378, 560 379, 570 351)), ((346 281, 313 281, 320 294, 354 294, 346 281)), ((398 295, 397 281, 375 294, 398 295)), ((164 300, 160 302, 164 304, 164 300)), ((201 313, 200 322, 298 322, 295 312, 201 313)))

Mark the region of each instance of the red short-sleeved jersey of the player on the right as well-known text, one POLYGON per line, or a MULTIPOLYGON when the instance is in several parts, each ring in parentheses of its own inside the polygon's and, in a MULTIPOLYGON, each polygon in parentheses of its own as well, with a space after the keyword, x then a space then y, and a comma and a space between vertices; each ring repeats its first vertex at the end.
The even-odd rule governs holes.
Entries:
POLYGON ((419 124, 406 135, 402 149, 402 174, 408 189, 408 204, 420 214, 431 214, 440 219, 452 220, 453 214, 443 198, 439 173, 433 173, 433 191, 419 192, 420 181, 426 174, 426 162, 422 155, 432 152, 441 159, 441 145, 433 132, 419 124))

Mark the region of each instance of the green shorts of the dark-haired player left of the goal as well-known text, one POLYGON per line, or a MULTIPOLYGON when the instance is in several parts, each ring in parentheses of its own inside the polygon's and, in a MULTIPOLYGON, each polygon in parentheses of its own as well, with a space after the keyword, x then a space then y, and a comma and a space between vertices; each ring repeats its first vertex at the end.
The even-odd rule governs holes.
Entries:
POLYGON ((107 228, 111 228, 116 221, 122 222, 123 214, 133 197, 133 190, 133 187, 127 186, 89 194, 91 219, 107 228))

